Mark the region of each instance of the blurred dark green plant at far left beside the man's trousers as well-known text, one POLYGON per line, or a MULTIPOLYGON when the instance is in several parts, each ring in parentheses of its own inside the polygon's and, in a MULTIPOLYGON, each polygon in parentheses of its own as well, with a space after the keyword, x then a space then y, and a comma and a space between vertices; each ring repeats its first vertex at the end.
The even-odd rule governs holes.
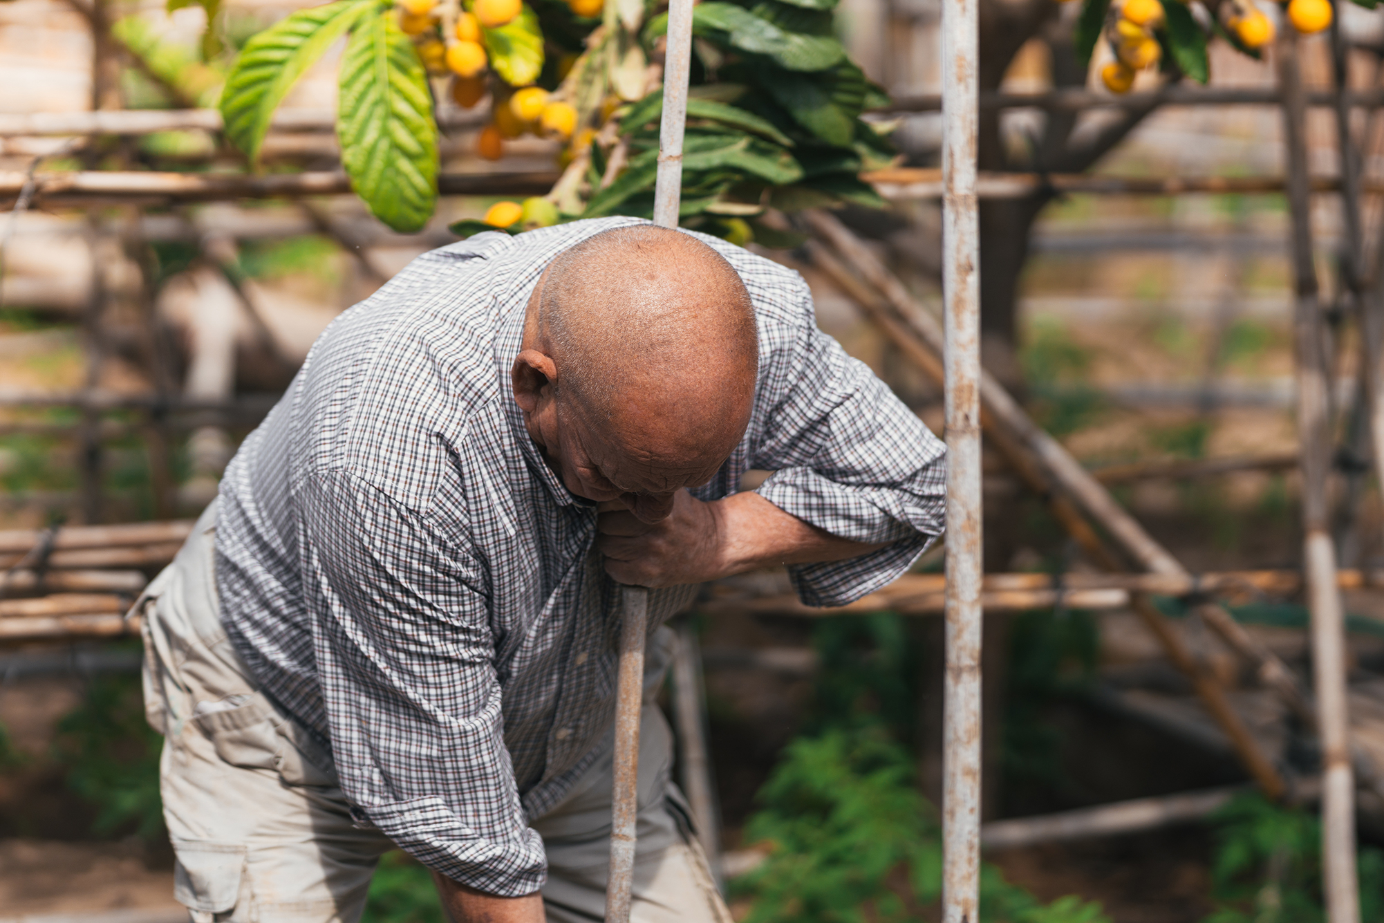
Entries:
POLYGON ((144 839, 163 830, 159 798, 161 738, 144 720, 138 677, 102 675, 58 724, 55 757, 68 786, 97 808, 93 832, 130 828, 144 839))

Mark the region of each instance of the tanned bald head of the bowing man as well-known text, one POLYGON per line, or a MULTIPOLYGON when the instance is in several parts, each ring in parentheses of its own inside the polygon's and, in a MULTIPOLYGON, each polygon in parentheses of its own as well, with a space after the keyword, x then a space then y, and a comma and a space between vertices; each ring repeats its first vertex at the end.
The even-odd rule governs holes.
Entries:
MULTIPOLYGON (((580 443, 602 480, 621 494, 660 494, 703 483, 735 448, 757 371, 754 307, 739 274, 695 237, 645 224, 595 234, 548 266, 515 394, 549 457, 559 433, 540 432, 527 403, 541 401, 525 394, 540 383, 551 389, 554 426, 569 430, 562 441, 580 443)), ((563 477, 574 493, 608 498, 563 477)))

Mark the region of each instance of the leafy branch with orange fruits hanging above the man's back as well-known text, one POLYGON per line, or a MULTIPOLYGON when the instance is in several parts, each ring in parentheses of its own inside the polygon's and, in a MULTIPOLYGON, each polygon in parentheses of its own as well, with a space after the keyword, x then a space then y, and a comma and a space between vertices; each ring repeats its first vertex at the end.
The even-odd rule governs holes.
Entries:
MULTIPOLYGON (((487 25, 483 1, 410 0, 396 11, 388 0, 336 0, 291 14, 237 57, 220 101, 227 137, 256 163, 289 87, 349 35, 336 126, 342 165, 390 227, 418 230, 433 212, 437 127, 428 75, 448 68, 459 104, 490 94, 483 156, 500 156, 504 138, 530 130, 570 141, 549 205, 529 209, 529 224, 650 213, 663 97, 649 91, 646 72, 667 25, 662 4, 541 0, 487 25)), ((859 116, 887 97, 846 57, 835 6, 742 0, 695 8, 685 224, 786 246, 799 238, 756 221, 771 205, 883 206, 858 173, 887 163, 893 149, 859 116)), ((522 227, 516 220, 508 230, 522 227)), ((453 226, 462 235, 486 228, 453 226)))

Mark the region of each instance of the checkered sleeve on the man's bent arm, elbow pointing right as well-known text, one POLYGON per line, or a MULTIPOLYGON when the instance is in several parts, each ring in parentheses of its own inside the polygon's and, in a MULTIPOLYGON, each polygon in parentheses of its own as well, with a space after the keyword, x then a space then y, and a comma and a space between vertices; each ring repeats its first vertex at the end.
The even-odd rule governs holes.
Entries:
POLYGON ((848 560, 799 565, 789 576, 810 606, 839 606, 908 570, 943 533, 945 448, 859 360, 822 333, 803 285, 796 324, 761 363, 763 436, 750 466, 774 470, 758 493, 833 536, 890 542, 848 560))

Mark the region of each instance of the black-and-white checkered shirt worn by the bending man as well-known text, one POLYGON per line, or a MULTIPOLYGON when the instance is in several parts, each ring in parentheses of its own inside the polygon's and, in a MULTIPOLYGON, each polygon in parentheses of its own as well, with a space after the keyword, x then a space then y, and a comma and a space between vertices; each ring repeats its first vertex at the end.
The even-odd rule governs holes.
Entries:
MULTIPOLYGON (((419 256, 327 328, 221 480, 221 617, 251 673, 329 742, 358 825, 490 894, 543 884, 529 819, 610 746, 620 620, 595 504, 544 464, 509 368, 549 260, 635 223, 419 256)), ((749 289, 760 368, 745 437, 692 493, 770 469, 781 509, 890 542, 789 569, 808 605, 857 599, 941 533, 943 446, 817 328, 797 273, 698 237, 749 289)), ((695 590, 650 592, 650 631, 695 590)))

